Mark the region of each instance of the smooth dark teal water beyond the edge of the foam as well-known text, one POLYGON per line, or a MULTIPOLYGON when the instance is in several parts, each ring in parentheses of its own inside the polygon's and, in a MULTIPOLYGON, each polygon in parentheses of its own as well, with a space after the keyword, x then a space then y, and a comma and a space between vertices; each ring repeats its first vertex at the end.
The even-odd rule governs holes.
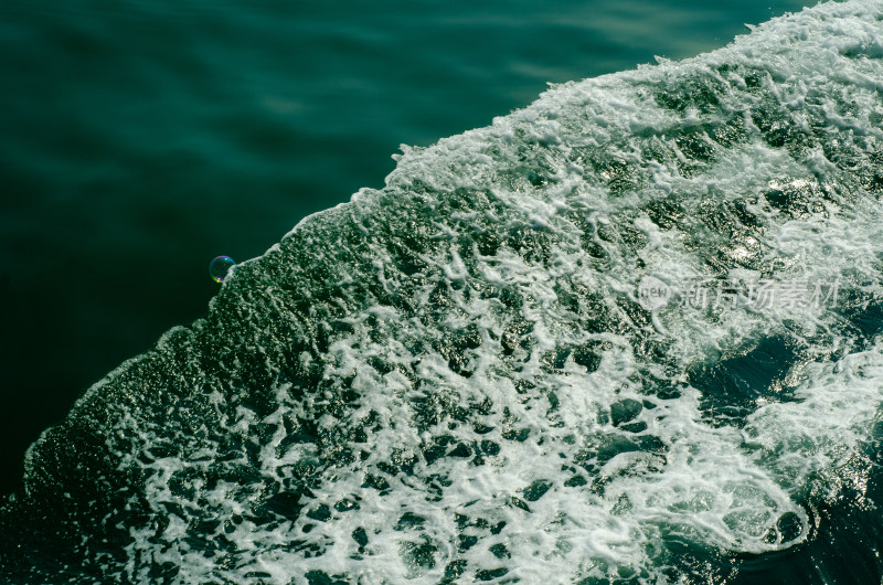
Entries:
POLYGON ((262 254, 546 82, 678 59, 800 1, 3 2, 0 492, 73 401, 262 254))

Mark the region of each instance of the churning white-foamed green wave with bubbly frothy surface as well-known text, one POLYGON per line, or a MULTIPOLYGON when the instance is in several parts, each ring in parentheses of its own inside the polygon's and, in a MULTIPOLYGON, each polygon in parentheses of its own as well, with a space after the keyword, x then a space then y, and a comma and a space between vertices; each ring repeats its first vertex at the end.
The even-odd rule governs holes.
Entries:
POLYGON ((44 433, 0 575, 880 582, 882 23, 403 147, 44 433))

